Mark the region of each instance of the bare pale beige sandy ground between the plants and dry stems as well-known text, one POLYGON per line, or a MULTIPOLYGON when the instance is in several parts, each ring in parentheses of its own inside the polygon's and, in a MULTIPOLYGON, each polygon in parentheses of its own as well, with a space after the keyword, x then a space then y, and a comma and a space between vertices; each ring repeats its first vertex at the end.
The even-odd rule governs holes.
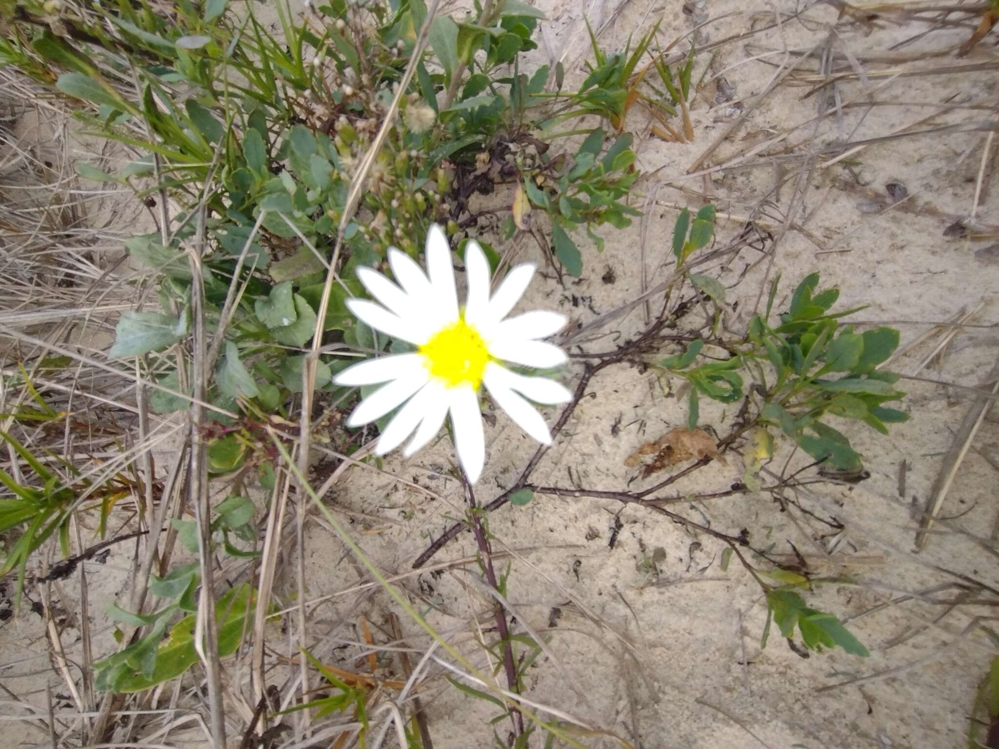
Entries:
MULTIPOLYGON (((785 13, 796 7, 793 2, 698 0, 690 15, 681 12, 678 0, 625 2, 619 12, 610 2, 538 0, 536 4, 550 19, 535 53, 537 60, 547 62, 549 54, 562 59, 569 81, 580 75, 587 52, 583 6, 594 28, 602 28, 601 43, 610 49, 622 47, 629 35, 637 37, 660 17, 658 38, 663 44, 690 33, 695 24, 717 19, 697 32, 698 43, 706 45, 770 25, 774 5, 785 13)), ((818 6, 807 13, 807 20, 785 19, 777 28, 718 47, 704 80, 723 74, 732 98, 721 101, 724 97, 719 96, 715 83, 704 85, 691 110, 694 143, 664 143, 648 134, 641 112, 631 114, 628 128, 639 135, 638 166, 646 175, 637 186, 642 197, 633 203, 647 208, 645 218, 623 232, 604 233, 608 242, 602 256, 580 243, 582 278, 566 279, 562 286, 548 274, 535 282, 521 306, 558 309, 585 324, 633 299, 643 288, 642 262, 645 288, 668 273, 671 257, 664 238, 671 232, 678 209, 696 208, 702 203, 698 195, 705 194, 719 209, 719 241, 741 231, 750 214, 761 229, 779 237, 775 248, 767 245, 773 252, 772 267, 764 261, 743 278, 746 267, 759 259, 745 249, 727 270, 712 271, 720 273, 719 278, 730 287, 729 329, 743 329, 761 285, 775 273, 783 278, 777 309, 786 305, 801 277, 818 271, 823 285, 839 287, 844 308, 870 305, 856 316, 858 320, 900 328, 903 347, 924 334, 931 327, 927 323, 950 320, 961 310, 985 303, 973 321, 981 327, 961 331, 942 363, 920 371, 928 379, 969 386, 982 383, 996 358, 995 334, 987 326, 996 322, 991 305, 999 274, 990 264, 994 256, 976 254, 976 250, 992 244, 995 237, 981 241, 949 238, 945 230, 954 217, 977 216, 989 222, 999 216, 991 171, 995 144, 988 134, 942 132, 875 142, 837 165, 823 166, 828 161, 824 157, 808 171, 808 165, 829 145, 881 138, 906 128, 967 125, 987 117, 984 110, 936 105, 994 107, 994 70, 894 76, 996 60, 994 37, 963 61, 953 54, 926 56, 929 51, 960 44, 967 36, 963 28, 936 29, 889 52, 893 44, 926 28, 924 24, 883 23, 880 28, 864 28, 837 23, 834 8, 818 6), (834 110, 816 120, 819 97, 826 90, 808 96, 820 80, 810 78, 816 75, 816 60, 802 60, 794 53, 824 44, 839 54, 835 67, 843 80, 835 87, 838 101, 858 106, 847 106, 840 114, 834 110), (754 56, 759 57, 750 61, 754 56), (795 66, 721 143, 704 165, 706 174, 687 175, 697 157, 725 132, 742 108, 752 106, 775 76, 795 66), (855 67, 865 71, 865 81, 857 80, 855 67), (894 104, 863 106, 870 101, 894 104), (812 120, 814 124, 805 125, 812 120), (785 133, 785 138, 761 149, 776 155, 761 157, 753 151, 785 133), (976 202, 983 149, 991 150, 976 202), (889 200, 887 183, 904 185, 909 195, 891 210, 884 210, 889 200), (762 211, 754 213, 760 206, 762 211), (785 221, 792 224, 786 232, 782 231, 785 221), (612 283, 607 282, 608 269, 613 272, 612 283)), ((703 70, 706 56, 698 59, 695 76, 703 70)), ((514 247, 517 260, 541 260, 530 242, 514 241, 514 247)), ((603 337, 594 337, 584 347, 604 350, 618 337, 623 340, 640 331, 643 324, 642 311, 636 310, 603 328, 599 332, 603 337)), ((914 347, 895 369, 916 372, 938 342, 939 338, 914 347)), ((578 370, 568 368, 564 381, 571 386, 578 375, 578 370)), ((597 375, 532 480, 593 489, 627 485, 634 469, 624 466, 625 457, 642 441, 685 422, 686 406, 673 394, 676 386, 626 366, 597 375)), ((864 454, 870 478, 854 487, 813 486, 807 495, 797 497, 819 517, 835 517, 843 524, 835 556, 815 562, 815 569, 829 575, 848 574, 854 580, 818 586, 807 598, 816 608, 848 618, 850 629, 871 650, 870 658, 862 660, 834 650, 805 659, 779 636, 771 636, 767 648, 761 650, 765 603, 758 586, 734 560, 726 571, 721 570, 722 544, 693 535, 641 507, 537 495, 526 506, 503 507, 489 522, 494 549, 509 550, 513 556, 506 599, 516 611, 515 631, 532 631, 547 642, 547 652, 528 671, 526 695, 645 749, 964 746, 966 716, 994 652, 980 630, 969 634, 966 628, 972 617, 988 616, 990 610, 903 599, 906 593, 911 596, 941 583, 958 582, 960 575, 999 585, 999 566, 990 540, 997 519, 996 473, 987 459, 999 457, 999 427, 986 418, 975 440, 981 451, 968 454, 954 483, 942 514, 959 517, 947 521, 945 528, 937 526, 940 533, 915 554, 913 498, 925 500, 971 399, 958 388, 932 382, 910 380, 905 389, 909 396, 903 407, 911 414, 908 423, 893 427, 887 437, 849 428, 850 438, 864 454), (903 460, 908 463, 907 488, 899 496, 897 476, 903 460), (615 517, 621 527, 611 548, 608 541, 615 517), (659 547, 664 557, 650 565, 647 559, 659 547), (824 687, 831 688, 819 691, 824 687)), ((501 412, 493 413, 496 423, 487 433, 487 472, 477 488, 483 503, 509 485, 534 449, 501 412)), ((555 411, 547 415, 550 422, 555 411)), ((723 417, 720 407, 702 406, 702 422, 721 423, 723 417)), ((787 454, 786 448, 780 449, 776 465, 782 465, 787 454)), ((795 460, 803 464, 799 457, 795 460)), ((411 460, 391 457, 385 473, 367 468, 348 471, 326 500, 349 520, 355 538, 386 574, 406 574, 428 543, 463 514, 461 485, 442 474, 453 462, 452 448, 444 437, 411 460), (402 484, 397 476, 437 496, 402 484)), ((741 474, 742 465, 733 455, 728 466, 712 463, 670 488, 680 497, 719 490, 741 474)), ((638 479, 631 488, 642 485, 648 484, 638 479)), ((837 535, 828 525, 800 512, 793 516, 781 512, 768 494, 679 502, 672 508, 724 532, 748 528, 754 543, 772 543, 774 553, 790 553, 793 544, 811 555, 810 559, 825 554, 837 535)), ((471 534, 464 533, 434 563, 472 556, 475 551, 471 534)), ((352 668, 360 652, 356 645, 361 638, 359 615, 363 613, 376 627, 385 627, 387 614, 395 607, 384 593, 352 590, 369 577, 351 563, 347 549, 321 521, 308 526, 305 563, 308 582, 303 593, 310 601, 323 599, 310 609, 312 650, 327 662, 352 668)), ((127 551, 115 551, 104 565, 88 565, 98 581, 91 590, 91 615, 95 643, 102 651, 113 645, 100 612, 100 595, 110 597, 124 589, 130 565, 127 551)), ((294 555, 283 569, 276 594, 285 605, 292 605, 298 593, 294 555)), ((491 641, 496 634, 489 631, 493 625, 490 605, 472 582, 476 573, 474 564, 456 564, 433 573, 409 574, 397 584, 439 631, 477 665, 488 667, 476 639, 491 641)), ((950 600, 959 592, 949 588, 939 597, 950 600)), ((67 585, 62 595, 63 606, 72 611, 77 593, 67 585)), ((405 616, 403 620, 409 644, 425 650, 426 637, 405 623, 405 616)), ((376 634, 381 640, 389 639, 376 634)), ((276 631, 270 644, 294 654, 297 643, 286 637, 290 635, 276 631)), ((64 636, 66 642, 73 639, 71 633, 64 636)), ((0 681, 40 705, 45 700, 42 679, 56 691, 63 688, 52 673, 35 675, 35 689, 23 688, 33 671, 46 666, 41 657, 45 645, 34 614, 22 614, 0 629, 0 663, 5 664, 0 681)), ((73 657, 73 646, 68 654, 73 657)), ((387 658, 385 664, 391 665, 392 659, 387 658)), ((245 672, 228 677, 235 688, 249 693, 245 672)), ((424 704, 438 749, 491 743, 492 728, 487 722, 496 717, 497 710, 488 703, 470 699, 438 678, 425 692, 424 704)), ((508 727, 508 722, 496 726, 501 736, 508 727)), ((32 733, 23 741, 18 736, 8 743, 0 736, 0 745, 31 745, 42 738, 32 733)), ((608 736, 578 740, 592 747, 618 745, 608 736)), ((166 741, 181 745, 173 743, 179 738, 166 741)), ((535 737, 531 743, 543 742, 535 737)), ((231 738, 231 745, 238 745, 238 737, 231 738)))

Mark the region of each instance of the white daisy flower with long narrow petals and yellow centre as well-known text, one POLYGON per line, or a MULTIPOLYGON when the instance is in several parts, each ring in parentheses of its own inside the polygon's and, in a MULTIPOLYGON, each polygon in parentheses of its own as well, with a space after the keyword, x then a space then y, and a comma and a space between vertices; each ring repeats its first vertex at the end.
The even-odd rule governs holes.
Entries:
POLYGON ((547 424, 524 396, 550 404, 570 400, 571 393, 553 379, 517 375, 500 364, 548 369, 566 360, 561 349, 540 341, 565 326, 564 316, 535 311, 504 319, 527 288, 534 265, 511 269, 491 297, 489 263, 479 243, 470 240, 465 254, 469 292, 462 308, 451 248, 438 225, 427 236, 427 274, 396 248, 389 250, 389 264, 399 286, 371 268, 358 269, 358 279, 381 306, 356 299, 347 306, 364 323, 408 341, 417 352, 371 359, 337 375, 343 385, 385 382, 354 409, 348 426, 375 421, 405 403, 382 432, 376 451, 384 455, 416 430, 405 450, 410 456, 434 438, 450 411, 458 459, 475 483, 486 461, 478 395, 485 383, 520 428, 549 444, 547 424))

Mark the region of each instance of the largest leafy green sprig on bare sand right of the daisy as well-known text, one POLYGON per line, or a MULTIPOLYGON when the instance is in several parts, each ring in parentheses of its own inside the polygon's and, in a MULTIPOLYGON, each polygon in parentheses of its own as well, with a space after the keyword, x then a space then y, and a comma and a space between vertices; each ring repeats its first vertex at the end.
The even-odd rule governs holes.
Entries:
MULTIPOLYGON (((713 222, 711 206, 702 208, 692 223, 688 213, 680 214, 673 235, 678 267, 710 241, 713 222)), ((724 287, 716 280, 695 274, 688 278, 713 304, 724 301, 724 287)), ((898 331, 880 327, 859 333, 853 326, 841 327, 840 320, 863 308, 831 312, 839 290, 817 291, 817 273, 798 284, 787 312, 771 324, 779 283, 778 276, 770 285, 765 313, 752 317, 743 341, 696 339, 659 366, 688 382, 690 428, 697 424, 702 396, 723 403, 746 396, 756 413, 752 423, 776 428, 824 467, 856 475, 863 468, 861 457, 829 419, 858 420, 887 434, 888 424, 908 418, 886 405, 905 394, 894 386, 899 375, 879 369, 898 348, 898 331), (720 349, 722 356, 702 362, 705 347, 720 349), (746 375, 754 380, 748 388, 746 375)))

